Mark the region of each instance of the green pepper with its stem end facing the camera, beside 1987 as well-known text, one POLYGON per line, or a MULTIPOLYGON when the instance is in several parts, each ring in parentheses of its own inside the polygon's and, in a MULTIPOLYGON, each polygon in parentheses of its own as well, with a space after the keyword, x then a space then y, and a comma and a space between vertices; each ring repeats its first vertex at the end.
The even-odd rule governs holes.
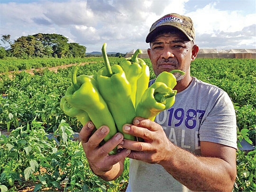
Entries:
POLYGON ((155 120, 155 116, 169 109, 175 101, 177 91, 164 82, 154 82, 146 89, 136 107, 136 116, 155 120))

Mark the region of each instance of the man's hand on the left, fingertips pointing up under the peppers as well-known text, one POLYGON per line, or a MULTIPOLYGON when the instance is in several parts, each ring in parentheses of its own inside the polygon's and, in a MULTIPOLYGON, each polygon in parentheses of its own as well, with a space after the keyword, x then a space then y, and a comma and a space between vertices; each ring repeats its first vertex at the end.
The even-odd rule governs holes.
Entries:
POLYGON ((109 155, 111 150, 123 142, 123 135, 117 133, 101 146, 101 141, 110 129, 107 126, 101 126, 92 134, 94 128, 93 123, 89 121, 79 133, 88 163, 94 174, 106 181, 115 180, 122 174, 124 160, 130 154, 130 150, 119 149, 116 155, 109 155))

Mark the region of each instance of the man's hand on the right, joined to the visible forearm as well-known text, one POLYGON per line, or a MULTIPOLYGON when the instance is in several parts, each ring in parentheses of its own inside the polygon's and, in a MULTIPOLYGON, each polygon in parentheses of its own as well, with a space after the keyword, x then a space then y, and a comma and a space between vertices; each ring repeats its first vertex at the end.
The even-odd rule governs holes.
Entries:
POLYGON ((170 148, 175 146, 166 137, 163 128, 144 118, 135 118, 133 125, 126 124, 123 127, 124 133, 140 137, 144 142, 137 142, 124 139, 120 146, 131 149, 129 158, 144 161, 150 164, 159 164, 170 155, 170 148))

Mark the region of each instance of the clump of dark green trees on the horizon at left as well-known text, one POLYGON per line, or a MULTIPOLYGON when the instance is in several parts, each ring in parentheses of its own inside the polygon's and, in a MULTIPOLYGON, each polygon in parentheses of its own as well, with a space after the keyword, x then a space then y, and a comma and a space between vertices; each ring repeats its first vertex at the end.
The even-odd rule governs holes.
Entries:
POLYGON ((1 35, 1 42, 8 46, 0 46, 0 58, 82 58, 86 52, 85 46, 68 43, 68 38, 59 34, 37 33, 19 37, 14 42, 10 40, 10 35, 1 35))

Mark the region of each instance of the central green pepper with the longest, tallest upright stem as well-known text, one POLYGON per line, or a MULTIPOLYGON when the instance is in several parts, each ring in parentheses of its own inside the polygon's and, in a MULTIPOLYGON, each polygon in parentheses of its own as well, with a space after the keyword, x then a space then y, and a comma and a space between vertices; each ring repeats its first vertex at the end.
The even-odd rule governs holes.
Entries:
MULTIPOLYGON (((104 43, 101 49, 105 66, 98 71, 94 78, 98 81, 100 93, 109 106, 118 131, 123 133, 123 125, 132 123, 136 115, 130 96, 131 85, 120 65, 114 64, 112 67, 110 66, 106 54, 106 45, 104 43)), ((123 135, 126 139, 135 140, 134 136, 125 133, 123 135)))

